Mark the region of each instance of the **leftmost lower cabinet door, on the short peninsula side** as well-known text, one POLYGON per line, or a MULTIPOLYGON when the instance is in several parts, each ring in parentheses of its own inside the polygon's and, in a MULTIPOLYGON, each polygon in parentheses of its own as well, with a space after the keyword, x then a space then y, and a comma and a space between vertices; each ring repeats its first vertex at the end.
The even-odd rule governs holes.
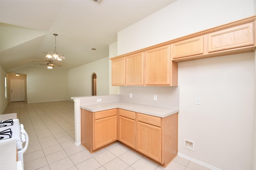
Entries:
POLYGON ((117 116, 94 121, 94 149, 117 140, 117 116))

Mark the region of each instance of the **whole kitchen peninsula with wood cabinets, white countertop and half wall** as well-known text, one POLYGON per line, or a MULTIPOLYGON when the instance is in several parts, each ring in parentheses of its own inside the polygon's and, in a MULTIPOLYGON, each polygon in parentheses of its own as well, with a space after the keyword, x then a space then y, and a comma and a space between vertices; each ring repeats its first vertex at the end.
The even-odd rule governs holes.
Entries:
POLYGON ((72 99, 76 145, 95 152, 120 141, 164 167, 177 155, 178 109, 121 102, 119 95, 72 99))

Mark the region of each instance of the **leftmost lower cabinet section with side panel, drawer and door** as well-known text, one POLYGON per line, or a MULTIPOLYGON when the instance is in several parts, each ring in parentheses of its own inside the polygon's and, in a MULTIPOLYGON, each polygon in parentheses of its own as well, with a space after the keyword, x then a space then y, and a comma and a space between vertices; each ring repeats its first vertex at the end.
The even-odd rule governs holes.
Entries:
POLYGON ((81 144, 91 153, 117 140, 117 109, 81 109, 81 144))

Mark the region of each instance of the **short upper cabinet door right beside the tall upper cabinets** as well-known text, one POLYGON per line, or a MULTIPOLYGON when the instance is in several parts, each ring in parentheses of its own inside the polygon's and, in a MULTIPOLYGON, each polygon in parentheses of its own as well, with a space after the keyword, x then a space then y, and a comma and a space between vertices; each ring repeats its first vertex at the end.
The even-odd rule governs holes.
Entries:
POLYGON ((195 37, 171 45, 172 59, 204 53, 204 37, 195 37))

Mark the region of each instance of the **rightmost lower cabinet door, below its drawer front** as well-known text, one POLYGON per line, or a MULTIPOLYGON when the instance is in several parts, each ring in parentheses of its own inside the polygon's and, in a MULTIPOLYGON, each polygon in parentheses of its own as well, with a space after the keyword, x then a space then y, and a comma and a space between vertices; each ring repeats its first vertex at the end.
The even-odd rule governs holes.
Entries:
POLYGON ((157 162, 162 162, 161 128, 138 121, 137 133, 137 150, 157 162))

